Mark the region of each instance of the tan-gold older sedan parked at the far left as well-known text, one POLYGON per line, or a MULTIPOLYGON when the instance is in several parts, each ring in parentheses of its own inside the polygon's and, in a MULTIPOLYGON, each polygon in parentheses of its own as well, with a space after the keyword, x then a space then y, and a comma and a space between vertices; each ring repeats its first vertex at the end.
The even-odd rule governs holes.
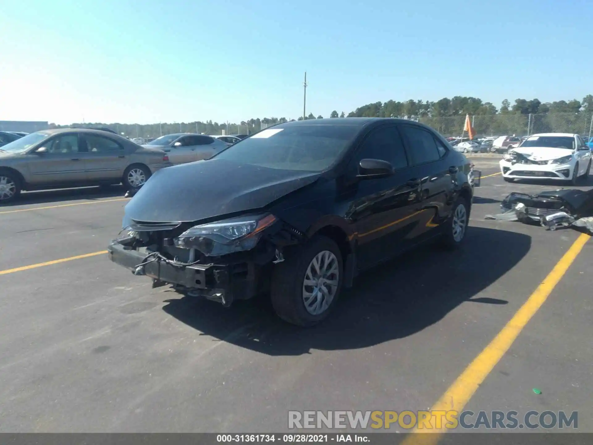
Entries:
POLYGON ((120 183, 138 190, 155 171, 171 165, 164 151, 107 131, 38 131, 0 148, 0 204, 21 190, 120 183))

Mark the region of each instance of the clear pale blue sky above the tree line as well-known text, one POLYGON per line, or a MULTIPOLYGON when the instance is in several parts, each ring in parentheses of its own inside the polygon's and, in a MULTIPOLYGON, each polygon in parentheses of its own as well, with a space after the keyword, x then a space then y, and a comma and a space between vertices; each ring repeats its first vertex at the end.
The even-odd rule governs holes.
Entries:
POLYGON ((0 0, 0 120, 239 122, 593 93, 593 2, 0 0))

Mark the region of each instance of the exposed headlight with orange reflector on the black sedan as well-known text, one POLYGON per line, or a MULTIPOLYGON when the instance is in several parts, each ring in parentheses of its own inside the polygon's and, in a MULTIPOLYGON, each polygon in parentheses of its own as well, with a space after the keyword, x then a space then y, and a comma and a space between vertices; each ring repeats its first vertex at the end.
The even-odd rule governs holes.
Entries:
POLYGON ((174 239, 174 243, 183 249, 197 249, 206 256, 242 252, 253 249, 263 230, 276 221, 274 215, 258 214, 195 225, 174 239))

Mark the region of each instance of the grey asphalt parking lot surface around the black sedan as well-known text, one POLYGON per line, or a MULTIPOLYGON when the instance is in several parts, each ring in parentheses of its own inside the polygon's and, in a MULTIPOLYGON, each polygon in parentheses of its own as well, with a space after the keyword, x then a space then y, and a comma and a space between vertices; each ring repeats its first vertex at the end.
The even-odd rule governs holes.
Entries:
POLYGON ((109 262, 118 187, 24 193, 0 207, 0 431, 282 432, 289 410, 450 397, 474 412, 578 411, 593 432, 593 244, 484 220, 511 191, 559 186, 505 183, 498 158, 472 159, 483 179, 464 249, 424 247, 364 274, 305 330, 265 300, 224 309, 109 262), (533 317, 514 319, 526 302, 533 317), (488 349, 499 333, 508 350, 488 349))

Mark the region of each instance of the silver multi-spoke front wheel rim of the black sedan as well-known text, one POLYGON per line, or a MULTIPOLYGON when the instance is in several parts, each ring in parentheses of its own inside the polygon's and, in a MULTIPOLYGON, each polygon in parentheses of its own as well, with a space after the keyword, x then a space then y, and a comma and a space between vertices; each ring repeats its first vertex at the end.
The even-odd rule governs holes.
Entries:
POLYGON ((311 260, 302 283, 302 300, 308 313, 319 315, 327 310, 336 296, 339 274, 336 255, 329 250, 311 260))

